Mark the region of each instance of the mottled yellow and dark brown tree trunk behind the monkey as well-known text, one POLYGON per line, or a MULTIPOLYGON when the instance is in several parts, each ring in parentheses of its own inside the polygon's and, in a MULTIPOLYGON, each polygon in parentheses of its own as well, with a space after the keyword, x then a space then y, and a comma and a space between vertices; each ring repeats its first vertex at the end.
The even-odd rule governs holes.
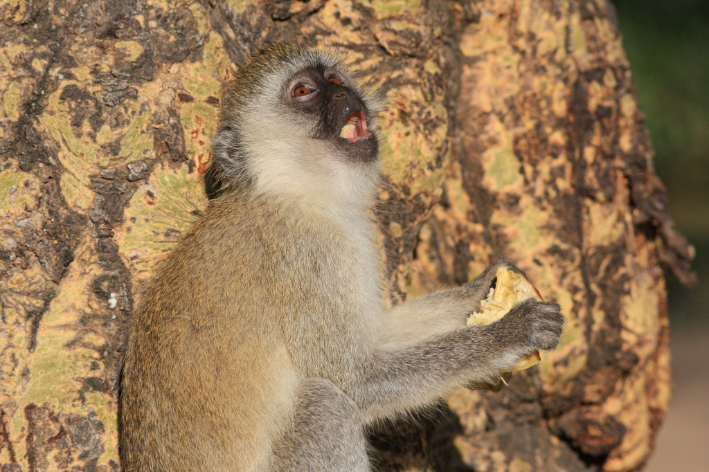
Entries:
POLYGON ((220 87, 264 41, 386 90, 391 300, 496 254, 568 317, 501 393, 373 435, 396 471, 634 471, 691 279, 605 0, 0 1, 0 470, 117 471, 125 322, 206 204, 220 87))

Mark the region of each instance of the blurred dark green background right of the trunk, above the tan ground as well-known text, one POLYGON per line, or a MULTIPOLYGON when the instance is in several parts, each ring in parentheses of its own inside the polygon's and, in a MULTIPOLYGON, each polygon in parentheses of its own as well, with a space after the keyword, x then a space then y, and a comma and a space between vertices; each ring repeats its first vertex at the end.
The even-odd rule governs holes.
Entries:
POLYGON ((669 277, 674 325, 709 323, 709 1, 615 0, 623 46, 670 213, 696 248, 699 283, 669 277))

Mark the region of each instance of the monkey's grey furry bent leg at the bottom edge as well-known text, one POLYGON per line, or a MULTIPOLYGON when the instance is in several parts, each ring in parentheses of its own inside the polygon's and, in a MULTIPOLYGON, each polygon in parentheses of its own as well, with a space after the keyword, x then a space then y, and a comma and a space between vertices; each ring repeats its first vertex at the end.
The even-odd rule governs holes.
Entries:
POLYGON ((369 472, 362 414, 323 378, 298 388, 292 429, 275 448, 277 472, 369 472))

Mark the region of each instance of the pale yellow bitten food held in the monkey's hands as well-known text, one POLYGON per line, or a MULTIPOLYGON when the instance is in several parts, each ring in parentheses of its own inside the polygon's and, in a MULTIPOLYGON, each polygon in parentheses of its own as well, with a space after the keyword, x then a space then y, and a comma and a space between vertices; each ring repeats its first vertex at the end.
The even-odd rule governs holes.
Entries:
MULTIPOLYGON (((513 306, 527 300, 527 298, 542 300, 537 289, 522 274, 502 266, 497 269, 496 276, 495 287, 490 288, 488 297, 480 302, 480 310, 470 315, 469 325, 489 325, 496 322, 513 306)), ((532 352, 520 357, 511 371, 529 369, 531 366, 539 364, 541 360, 539 351, 532 352)))

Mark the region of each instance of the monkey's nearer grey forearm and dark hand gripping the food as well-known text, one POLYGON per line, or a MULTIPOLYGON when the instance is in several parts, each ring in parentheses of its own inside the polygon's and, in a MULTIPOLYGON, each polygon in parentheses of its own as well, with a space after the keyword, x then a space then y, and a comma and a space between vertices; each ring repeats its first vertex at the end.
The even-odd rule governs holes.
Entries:
POLYGON ((491 325, 471 325, 423 342, 372 354, 345 391, 368 421, 428 405, 471 382, 496 381, 525 354, 553 349, 564 317, 559 305, 533 298, 491 325))

